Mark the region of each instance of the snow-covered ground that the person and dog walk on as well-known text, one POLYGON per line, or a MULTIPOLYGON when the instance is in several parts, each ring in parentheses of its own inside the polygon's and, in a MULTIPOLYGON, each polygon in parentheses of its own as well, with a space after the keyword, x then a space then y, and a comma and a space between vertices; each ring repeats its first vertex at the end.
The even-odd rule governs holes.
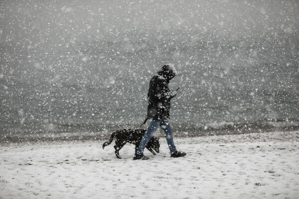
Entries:
POLYGON ((187 152, 117 159, 103 140, 0 145, 0 198, 298 199, 299 131, 174 137, 187 152))

